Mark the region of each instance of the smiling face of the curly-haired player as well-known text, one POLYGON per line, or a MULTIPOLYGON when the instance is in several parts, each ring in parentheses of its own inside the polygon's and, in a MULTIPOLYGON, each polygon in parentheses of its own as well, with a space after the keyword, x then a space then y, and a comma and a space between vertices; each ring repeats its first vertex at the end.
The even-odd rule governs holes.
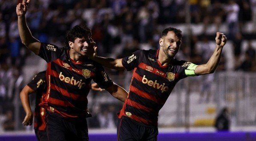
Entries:
POLYGON ((70 50, 73 50, 75 54, 80 54, 81 56, 87 56, 88 48, 87 40, 83 38, 76 38, 74 42, 70 42, 70 50))

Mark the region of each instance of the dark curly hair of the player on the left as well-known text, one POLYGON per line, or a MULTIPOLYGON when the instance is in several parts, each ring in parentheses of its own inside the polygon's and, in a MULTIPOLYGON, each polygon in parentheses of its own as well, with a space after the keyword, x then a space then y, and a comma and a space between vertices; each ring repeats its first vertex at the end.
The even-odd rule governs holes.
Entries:
POLYGON ((89 38, 91 38, 91 36, 92 36, 91 29, 87 27, 87 25, 83 25, 83 26, 76 25, 66 33, 65 48, 69 49, 70 48, 69 41, 75 42, 76 38, 84 37, 89 44, 90 43, 89 38))

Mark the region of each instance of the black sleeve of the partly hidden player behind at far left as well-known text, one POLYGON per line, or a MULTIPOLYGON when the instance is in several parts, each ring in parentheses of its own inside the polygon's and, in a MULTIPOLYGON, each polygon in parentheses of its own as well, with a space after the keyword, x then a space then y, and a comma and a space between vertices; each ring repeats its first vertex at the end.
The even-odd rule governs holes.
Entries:
POLYGON ((39 72, 38 74, 36 74, 34 76, 34 78, 32 79, 32 81, 30 81, 27 85, 33 89, 34 91, 38 90, 40 87, 44 87, 45 86, 45 71, 43 72, 39 72))

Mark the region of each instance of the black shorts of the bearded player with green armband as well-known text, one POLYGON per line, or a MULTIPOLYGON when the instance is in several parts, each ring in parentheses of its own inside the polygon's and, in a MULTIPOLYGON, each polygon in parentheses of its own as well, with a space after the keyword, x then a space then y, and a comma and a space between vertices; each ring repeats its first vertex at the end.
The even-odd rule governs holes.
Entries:
POLYGON ((157 141, 158 128, 145 126, 128 117, 118 119, 117 141, 157 141))

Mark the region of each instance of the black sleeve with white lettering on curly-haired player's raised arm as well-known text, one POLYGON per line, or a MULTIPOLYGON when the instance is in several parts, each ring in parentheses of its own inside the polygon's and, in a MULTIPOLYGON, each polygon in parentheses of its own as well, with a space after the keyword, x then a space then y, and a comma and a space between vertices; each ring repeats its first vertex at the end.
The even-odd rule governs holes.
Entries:
POLYGON ((63 48, 59 48, 56 45, 41 42, 41 47, 37 55, 43 58, 46 62, 51 62, 53 60, 56 60, 62 51, 63 48))

